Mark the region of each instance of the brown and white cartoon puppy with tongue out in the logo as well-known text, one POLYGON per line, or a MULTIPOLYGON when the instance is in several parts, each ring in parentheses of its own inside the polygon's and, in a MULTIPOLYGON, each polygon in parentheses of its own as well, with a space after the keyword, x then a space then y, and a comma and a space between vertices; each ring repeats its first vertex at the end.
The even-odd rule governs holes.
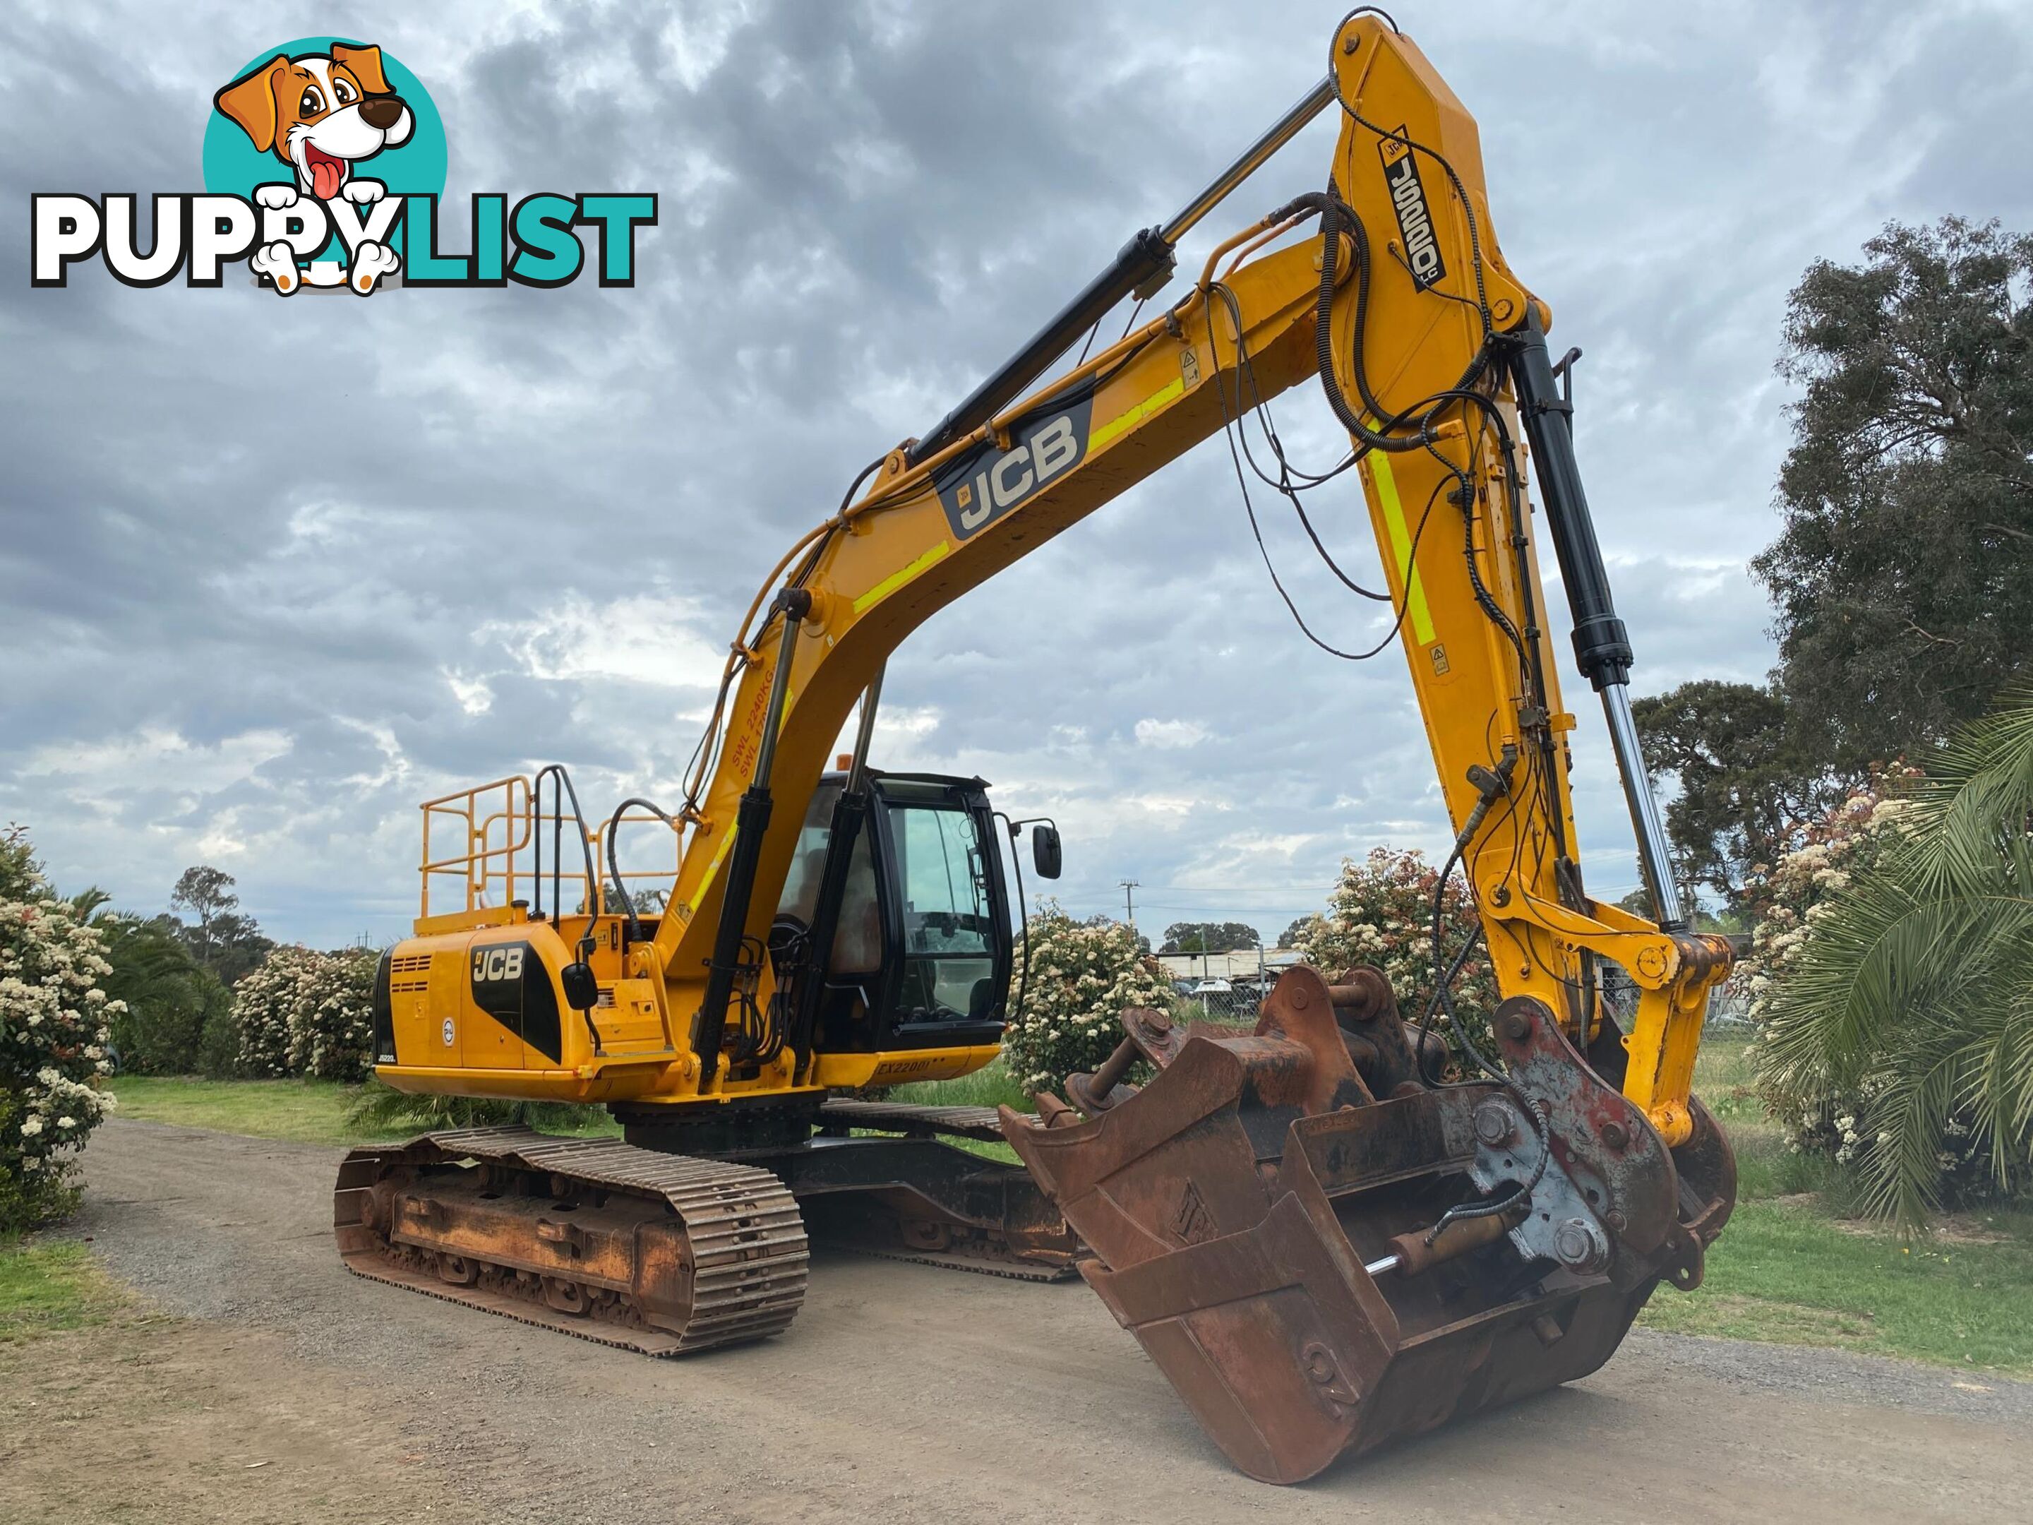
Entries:
MULTIPOLYGON (((417 120, 388 87, 378 47, 333 43, 331 53, 276 53, 234 79, 211 104, 248 134, 258 152, 272 152, 297 171, 293 183, 256 185, 254 201, 287 209, 299 197, 352 201, 370 207, 388 187, 354 173, 354 165, 409 142, 417 120)), ((366 295, 398 270, 403 258, 382 242, 352 250, 348 281, 366 295)), ((285 297, 297 289, 297 256, 287 242, 254 250, 248 268, 274 281, 285 297)))

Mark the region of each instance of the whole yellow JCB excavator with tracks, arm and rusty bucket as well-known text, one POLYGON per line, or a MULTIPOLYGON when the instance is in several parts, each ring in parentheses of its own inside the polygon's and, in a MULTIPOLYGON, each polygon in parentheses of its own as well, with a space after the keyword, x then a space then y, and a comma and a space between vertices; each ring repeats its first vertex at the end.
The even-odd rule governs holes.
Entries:
MULTIPOLYGON (((783 555, 683 803, 590 828, 547 767, 425 805, 376 1074, 604 1102, 622 1139, 468 1128, 354 1151, 346 1263, 651 1354, 785 1330, 807 1230, 1077 1271, 1230 1460, 1275 1482, 1608 1360, 1661 1279, 1702 1279, 1734 1202, 1730 1147, 1689 1094, 1730 956, 1689 931, 1669 872, 1547 321, 1498 248, 1474 120, 1387 16, 1352 12, 1305 100, 783 555), (1041 380, 1104 313, 1155 297, 1179 238, 1321 112, 1340 120, 1326 189, 1041 380), (1004 887, 1023 824, 986 785, 870 767, 888 653, 1301 380, 1360 470, 1456 828, 1441 878, 1466 874, 1504 996, 1488 1033, 1454 1021, 1474 941, 1443 948, 1435 913, 1425 1011, 1401 1013, 1376 970, 1299 966, 1254 1033, 1122 1013, 1116 1053, 1035 1114, 868 1100, 996 1057, 1023 919, 1004 887), (1657 923, 1582 884, 1543 543, 1657 923), (661 889, 620 866, 624 828, 671 852, 661 889), (1622 1021, 1610 964, 1637 986, 1622 1021), (947 1139, 1006 1141, 1023 1165, 947 1139)), ((1033 852, 1057 872, 1053 826, 1033 824, 1033 852)))

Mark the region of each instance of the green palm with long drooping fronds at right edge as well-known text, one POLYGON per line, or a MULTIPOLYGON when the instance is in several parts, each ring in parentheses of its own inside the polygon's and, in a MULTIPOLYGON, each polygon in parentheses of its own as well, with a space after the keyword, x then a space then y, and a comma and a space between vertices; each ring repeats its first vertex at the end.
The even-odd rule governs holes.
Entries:
POLYGON ((1862 1096, 1864 1206, 1917 1228, 1952 1124, 1998 1192, 2033 1169, 2033 691, 1929 756, 1903 826, 1818 909, 1767 1004, 1779 1096, 1862 1096))

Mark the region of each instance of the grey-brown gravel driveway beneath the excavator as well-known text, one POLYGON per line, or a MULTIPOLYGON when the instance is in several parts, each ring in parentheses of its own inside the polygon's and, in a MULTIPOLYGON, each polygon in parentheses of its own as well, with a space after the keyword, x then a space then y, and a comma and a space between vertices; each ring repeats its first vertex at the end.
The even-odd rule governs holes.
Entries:
POLYGON ((821 1253, 787 1336, 646 1360, 346 1275, 337 1157, 116 1120, 85 1159, 79 1232, 195 1320, 150 1336, 163 1383, 218 1395, 193 1434, 305 1436, 232 1478, 236 1519, 2033 1519, 2033 1385, 1815 1350, 1641 1332, 1584 1383, 1283 1490, 1224 1464, 1080 1283, 821 1253))

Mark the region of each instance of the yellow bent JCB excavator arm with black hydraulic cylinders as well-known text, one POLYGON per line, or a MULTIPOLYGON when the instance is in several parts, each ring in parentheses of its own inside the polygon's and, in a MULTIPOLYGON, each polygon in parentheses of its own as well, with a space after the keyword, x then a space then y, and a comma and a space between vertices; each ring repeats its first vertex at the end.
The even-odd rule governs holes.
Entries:
MULTIPOLYGON (((1161 279, 1181 224, 1212 201, 1141 234, 925 441, 874 466, 860 496, 803 537, 756 596, 716 712, 718 752, 701 750, 675 915, 638 952, 689 1019, 697 1092, 726 1084, 718 1051, 730 988, 771 978, 754 950, 803 805, 888 653, 1208 435, 1317 380, 1360 455, 1397 638, 1496 982, 1557 1013, 1669 1145, 1689 1137, 1706 994, 1728 972, 1728 948, 1689 935, 1677 907, 1630 728, 1630 649, 1547 358, 1545 303, 1504 262, 1474 120, 1409 39, 1376 16, 1352 18, 1332 75, 1238 171, 1321 108, 1340 116, 1328 191, 1224 240, 1169 309, 1014 396, 1033 380, 1023 370, 1049 362, 1090 313, 1161 279), (1543 541, 1574 606, 1576 659, 1604 699, 1661 925, 1582 884, 1567 783, 1576 718, 1559 691, 1543 541), (1624 1053, 1614 1027, 1604 1047, 1598 960, 1639 988, 1624 1053)), ((809 1045, 787 1045, 777 1063, 768 1084, 811 1084, 809 1045)))

